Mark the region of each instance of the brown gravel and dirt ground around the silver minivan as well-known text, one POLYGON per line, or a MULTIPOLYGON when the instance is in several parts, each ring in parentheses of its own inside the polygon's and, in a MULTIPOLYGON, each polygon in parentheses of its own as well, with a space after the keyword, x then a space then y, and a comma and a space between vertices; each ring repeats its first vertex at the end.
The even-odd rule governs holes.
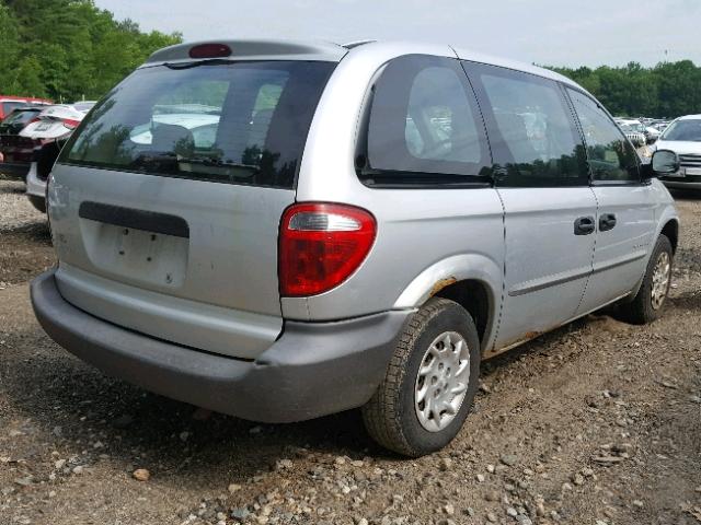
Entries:
POLYGON ((663 319, 589 316, 484 365, 446 451, 406 460, 356 411, 290 425, 107 378, 51 342, 27 284, 44 217, 0 182, 0 524, 699 524, 701 198, 663 319))

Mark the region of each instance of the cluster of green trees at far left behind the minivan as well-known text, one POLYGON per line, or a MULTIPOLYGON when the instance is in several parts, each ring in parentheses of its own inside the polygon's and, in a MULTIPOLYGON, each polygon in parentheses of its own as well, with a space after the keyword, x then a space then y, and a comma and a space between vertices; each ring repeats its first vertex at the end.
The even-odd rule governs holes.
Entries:
POLYGON ((143 33, 92 0, 0 0, 0 92, 99 98, 182 35, 143 33))

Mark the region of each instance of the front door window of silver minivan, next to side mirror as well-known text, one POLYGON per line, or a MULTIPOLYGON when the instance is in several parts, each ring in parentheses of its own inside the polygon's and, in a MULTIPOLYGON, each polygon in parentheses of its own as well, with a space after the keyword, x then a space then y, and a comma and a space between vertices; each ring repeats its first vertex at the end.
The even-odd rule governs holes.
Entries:
POLYGON ((587 95, 567 89, 587 145, 595 182, 637 182, 637 153, 613 120, 587 95))

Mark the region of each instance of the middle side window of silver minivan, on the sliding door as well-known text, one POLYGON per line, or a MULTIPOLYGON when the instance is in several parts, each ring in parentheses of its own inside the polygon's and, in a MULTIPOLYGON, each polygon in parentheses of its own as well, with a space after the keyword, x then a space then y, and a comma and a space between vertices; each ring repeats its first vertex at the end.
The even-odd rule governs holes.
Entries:
POLYGON ((584 144, 556 82, 467 62, 490 129, 498 186, 588 184, 584 144))

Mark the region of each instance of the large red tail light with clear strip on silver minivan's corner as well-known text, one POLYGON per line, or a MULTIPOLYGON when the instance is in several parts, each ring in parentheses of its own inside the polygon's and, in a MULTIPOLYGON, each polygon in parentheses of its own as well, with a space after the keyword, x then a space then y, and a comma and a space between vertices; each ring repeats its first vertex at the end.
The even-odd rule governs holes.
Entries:
POLYGON ((345 205, 289 207, 280 224, 279 278, 284 296, 337 287, 365 260, 377 233, 370 212, 345 205))

